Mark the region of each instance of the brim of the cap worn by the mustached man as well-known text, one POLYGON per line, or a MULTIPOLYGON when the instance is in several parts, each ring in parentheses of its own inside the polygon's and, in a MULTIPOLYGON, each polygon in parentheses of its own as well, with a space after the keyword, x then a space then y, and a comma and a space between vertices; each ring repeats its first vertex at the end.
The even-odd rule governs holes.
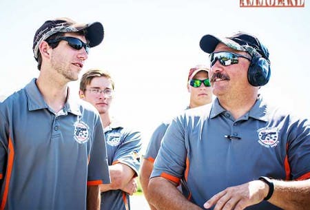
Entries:
POLYGON ((201 50, 210 54, 214 52, 216 45, 218 45, 218 43, 223 43, 227 45, 227 47, 232 48, 234 50, 247 51, 245 48, 242 47, 242 45, 239 45, 238 43, 232 41, 231 39, 219 38, 211 34, 207 34, 200 39, 200 48, 201 50))

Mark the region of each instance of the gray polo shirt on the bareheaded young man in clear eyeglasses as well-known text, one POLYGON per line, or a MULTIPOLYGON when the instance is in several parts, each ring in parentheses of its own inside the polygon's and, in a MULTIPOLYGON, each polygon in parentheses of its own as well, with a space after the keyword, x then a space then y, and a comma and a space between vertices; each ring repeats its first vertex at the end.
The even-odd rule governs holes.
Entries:
MULTIPOLYGON (((138 176, 140 168, 141 133, 113 120, 104 129, 109 165, 123 163, 138 176)), ((101 193, 101 210, 129 210, 130 196, 120 189, 101 193)))

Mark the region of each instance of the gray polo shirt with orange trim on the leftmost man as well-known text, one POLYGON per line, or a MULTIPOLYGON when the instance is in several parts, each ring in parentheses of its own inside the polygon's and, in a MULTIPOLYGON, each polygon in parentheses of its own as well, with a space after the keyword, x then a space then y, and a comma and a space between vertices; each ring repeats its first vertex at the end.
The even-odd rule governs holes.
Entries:
POLYGON ((87 185, 110 183, 99 113, 70 95, 54 113, 33 79, 0 104, 0 209, 86 209, 87 185))

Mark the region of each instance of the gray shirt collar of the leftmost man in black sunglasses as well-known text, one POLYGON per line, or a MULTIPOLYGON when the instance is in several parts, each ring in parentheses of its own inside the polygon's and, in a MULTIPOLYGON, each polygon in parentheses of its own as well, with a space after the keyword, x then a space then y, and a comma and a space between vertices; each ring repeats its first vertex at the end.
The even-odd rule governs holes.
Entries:
MULTIPOLYGON (((37 109, 49 109, 47 103, 45 103, 44 98, 39 91, 39 88, 36 84, 37 78, 33 78, 28 85, 25 86, 25 92, 27 94, 28 100, 28 110, 34 111, 37 109)), ((81 116, 81 110, 79 109, 79 104, 70 94, 70 90, 68 89, 68 99, 65 103, 65 107, 63 107, 63 112, 70 112, 75 115, 81 116)))

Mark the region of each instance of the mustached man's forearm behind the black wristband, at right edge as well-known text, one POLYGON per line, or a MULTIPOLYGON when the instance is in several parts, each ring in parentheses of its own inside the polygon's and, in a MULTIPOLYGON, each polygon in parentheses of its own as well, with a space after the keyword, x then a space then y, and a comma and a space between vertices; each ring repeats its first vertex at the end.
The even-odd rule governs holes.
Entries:
POLYGON ((274 191, 268 200, 287 210, 303 210, 310 207, 310 179, 300 181, 272 180, 274 191))

